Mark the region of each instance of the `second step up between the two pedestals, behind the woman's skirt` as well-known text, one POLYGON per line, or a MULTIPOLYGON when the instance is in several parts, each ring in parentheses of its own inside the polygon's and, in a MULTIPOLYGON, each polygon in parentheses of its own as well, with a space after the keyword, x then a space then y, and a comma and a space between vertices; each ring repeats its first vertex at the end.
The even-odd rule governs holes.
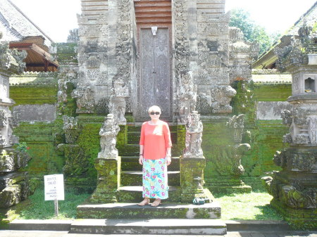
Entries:
MULTIPOLYGON (((180 186, 179 171, 168 171, 168 184, 170 186, 180 186)), ((142 186, 142 171, 122 171, 121 185, 142 186)))

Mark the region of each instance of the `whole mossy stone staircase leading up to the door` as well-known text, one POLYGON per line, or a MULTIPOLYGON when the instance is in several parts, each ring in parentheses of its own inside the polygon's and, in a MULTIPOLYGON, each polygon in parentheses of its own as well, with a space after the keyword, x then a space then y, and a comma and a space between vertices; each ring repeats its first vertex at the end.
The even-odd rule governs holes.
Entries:
MULTIPOLYGON (((180 203, 180 158, 172 158, 168 166, 169 198, 159 207, 139 207, 142 198, 142 166, 137 156, 139 128, 128 130, 128 155, 121 154, 116 190, 117 203, 83 203, 77 206, 78 220, 70 233, 130 234, 225 234, 225 222, 219 218, 221 208, 212 197, 211 203, 193 205, 180 203), (119 174, 120 173, 120 174, 119 174), (119 177, 120 176, 120 177, 119 177)), ((172 135, 173 137, 173 135, 172 135)), ((120 154, 120 150, 119 150, 120 154)))

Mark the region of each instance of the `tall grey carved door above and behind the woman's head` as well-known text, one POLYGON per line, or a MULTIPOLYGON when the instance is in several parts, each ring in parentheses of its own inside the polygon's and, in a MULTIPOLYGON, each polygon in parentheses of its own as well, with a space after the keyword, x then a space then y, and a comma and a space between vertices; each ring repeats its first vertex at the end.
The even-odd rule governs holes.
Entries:
POLYGON ((169 36, 168 28, 159 28, 156 35, 151 29, 140 31, 138 120, 149 119, 151 105, 159 105, 161 119, 172 120, 169 36))

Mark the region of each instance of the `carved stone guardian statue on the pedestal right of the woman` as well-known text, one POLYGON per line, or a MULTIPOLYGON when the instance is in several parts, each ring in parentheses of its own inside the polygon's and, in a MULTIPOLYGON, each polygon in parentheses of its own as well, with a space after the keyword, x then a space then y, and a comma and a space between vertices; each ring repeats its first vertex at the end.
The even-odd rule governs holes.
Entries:
POLYGON ((201 149, 203 124, 197 111, 193 111, 186 124, 186 140, 184 158, 201 158, 203 150, 201 149))

